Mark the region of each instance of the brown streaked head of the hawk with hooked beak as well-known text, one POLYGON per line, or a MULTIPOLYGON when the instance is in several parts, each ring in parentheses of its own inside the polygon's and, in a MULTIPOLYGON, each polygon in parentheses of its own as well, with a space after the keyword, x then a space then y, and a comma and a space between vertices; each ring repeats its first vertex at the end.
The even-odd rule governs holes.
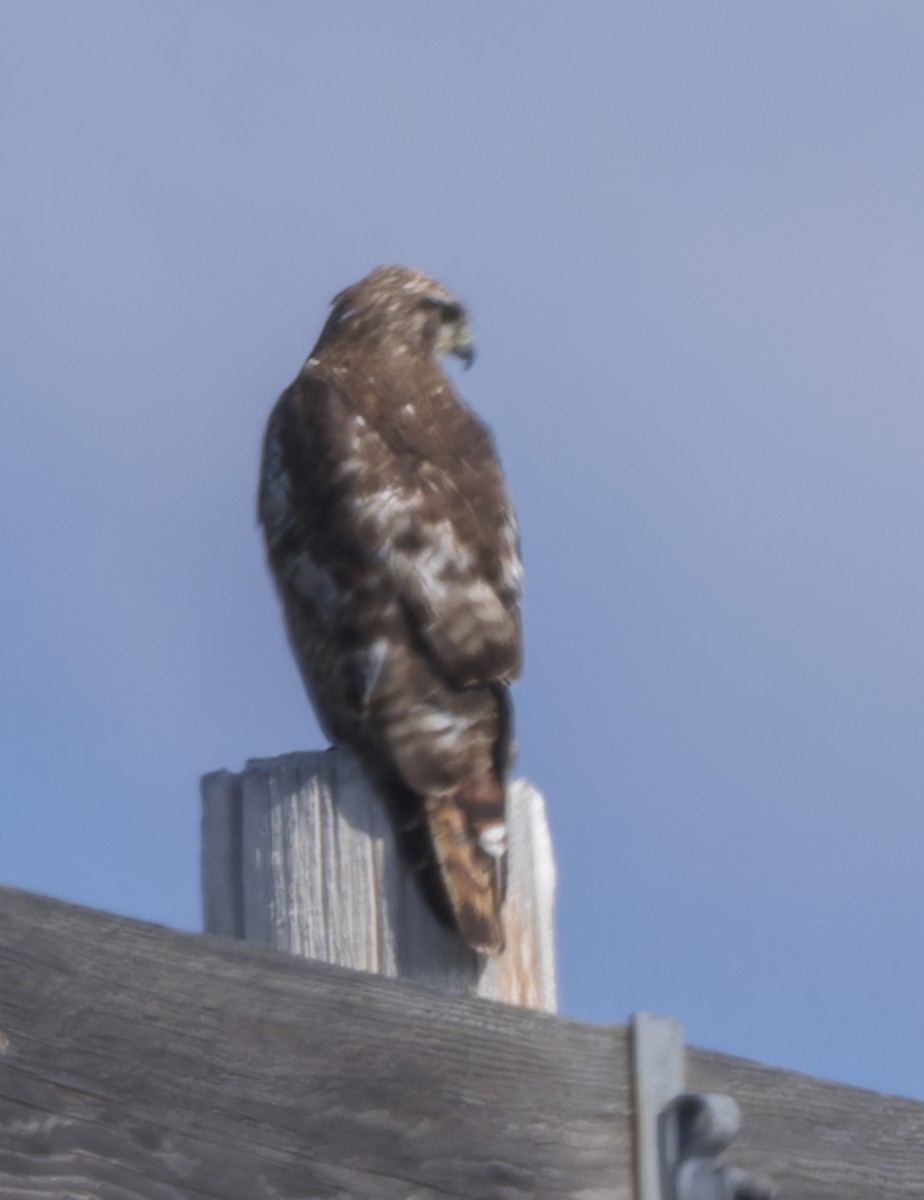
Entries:
POLYGON ((436 361, 455 354, 466 366, 475 356, 463 306, 442 283, 407 266, 377 266, 334 298, 312 354, 349 343, 436 361))

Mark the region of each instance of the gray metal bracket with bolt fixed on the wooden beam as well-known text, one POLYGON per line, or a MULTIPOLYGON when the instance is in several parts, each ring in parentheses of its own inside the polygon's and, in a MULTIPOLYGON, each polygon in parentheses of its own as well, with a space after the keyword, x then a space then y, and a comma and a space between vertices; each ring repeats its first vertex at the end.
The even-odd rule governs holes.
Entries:
POLYGON ((680 1025, 638 1013, 631 1031, 636 1200, 769 1200, 766 1181, 715 1164, 740 1114, 731 1096, 684 1092, 680 1025))

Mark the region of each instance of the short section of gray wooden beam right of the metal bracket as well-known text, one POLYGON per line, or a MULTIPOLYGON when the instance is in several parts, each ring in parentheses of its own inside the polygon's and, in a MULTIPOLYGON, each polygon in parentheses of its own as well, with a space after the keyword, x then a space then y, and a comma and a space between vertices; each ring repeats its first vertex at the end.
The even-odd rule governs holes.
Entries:
POLYGON ((920 1200, 924 1104, 688 1049, 686 1086, 742 1110, 728 1162, 781 1200, 920 1200))

